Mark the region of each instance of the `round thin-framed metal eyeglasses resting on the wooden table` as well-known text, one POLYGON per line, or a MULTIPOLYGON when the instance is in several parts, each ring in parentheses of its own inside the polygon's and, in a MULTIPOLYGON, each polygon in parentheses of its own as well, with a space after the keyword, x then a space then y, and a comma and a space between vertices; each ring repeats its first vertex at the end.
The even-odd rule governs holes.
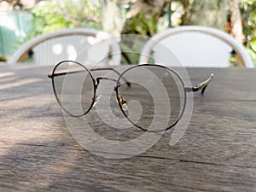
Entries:
POLYGON ((180 76, 168 67, 143 64, 125 69, 119 73, 114 68, 88 69, 76 61, 61 61, 48 75, 57 102, 73 117, 81 117, 100 100, 96 90, 102 80, 114 82, 116 101, 132 125, 143 131, 171 129, 182 118, 187 93, 201 90, 201 94, 213 78, 213 74, 192 87, 186 87, 180 76), (118 78, 96 77, 94 71, 111 70, 118 78), (156 117, 156 118, 155 118, 156 117))

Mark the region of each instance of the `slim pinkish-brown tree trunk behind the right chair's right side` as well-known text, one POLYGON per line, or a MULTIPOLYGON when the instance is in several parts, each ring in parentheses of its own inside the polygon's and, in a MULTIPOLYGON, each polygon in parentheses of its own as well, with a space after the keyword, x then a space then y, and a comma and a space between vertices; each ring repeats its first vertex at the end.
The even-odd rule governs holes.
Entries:
POLYGON ((242 44, 244 35, 242 33, 241 13, 238 0, 230 0, 230 22, 231 35, 242 44))

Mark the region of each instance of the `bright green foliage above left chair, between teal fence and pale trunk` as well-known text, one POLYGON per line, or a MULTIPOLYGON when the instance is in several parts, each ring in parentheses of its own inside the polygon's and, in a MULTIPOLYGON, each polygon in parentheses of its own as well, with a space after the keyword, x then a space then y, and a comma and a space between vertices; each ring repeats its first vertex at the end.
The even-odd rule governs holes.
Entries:
POLYGON ((63 28, 102 28, 100 0, 41 1, 31 11, 34 15, 33 35, 63 28))

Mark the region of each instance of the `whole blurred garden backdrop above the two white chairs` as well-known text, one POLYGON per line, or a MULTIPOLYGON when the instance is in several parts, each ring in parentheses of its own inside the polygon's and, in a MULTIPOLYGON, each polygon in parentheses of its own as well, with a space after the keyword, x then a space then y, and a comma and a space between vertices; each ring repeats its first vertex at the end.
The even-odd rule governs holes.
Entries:
POLYGON ((255 0, 0 0, 0 60, 28 39, 59 29, 89 27, 150 38, 184 25, 230 33, 256 67, 255 0))

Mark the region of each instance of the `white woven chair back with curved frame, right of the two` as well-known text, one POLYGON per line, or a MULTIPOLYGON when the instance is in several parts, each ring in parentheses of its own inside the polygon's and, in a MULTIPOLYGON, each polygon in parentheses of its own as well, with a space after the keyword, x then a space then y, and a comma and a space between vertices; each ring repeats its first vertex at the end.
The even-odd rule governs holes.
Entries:
POLYGON ((170 67, 230 67, 232 51, 241 67, 253 67, 247 50, 228 33, 206 26, 179 26, 150 38, 139 63, 151 59, 170 67))

